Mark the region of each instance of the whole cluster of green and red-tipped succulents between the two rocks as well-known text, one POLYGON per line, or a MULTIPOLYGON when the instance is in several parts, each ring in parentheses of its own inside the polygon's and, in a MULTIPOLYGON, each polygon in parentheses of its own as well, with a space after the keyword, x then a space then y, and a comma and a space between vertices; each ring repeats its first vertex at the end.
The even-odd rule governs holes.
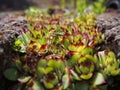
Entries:
POLYGON ((13 46, 22 55, 4 73, 23 85, 19 89, 88 90, 105 83, 105 76, 120 74, 113 52, 95 51, 104 36, 95 28, 93 13, 72 21, 66 16, 42 13, 30 14, 27 20, 29 28, 20 32, 13 46))

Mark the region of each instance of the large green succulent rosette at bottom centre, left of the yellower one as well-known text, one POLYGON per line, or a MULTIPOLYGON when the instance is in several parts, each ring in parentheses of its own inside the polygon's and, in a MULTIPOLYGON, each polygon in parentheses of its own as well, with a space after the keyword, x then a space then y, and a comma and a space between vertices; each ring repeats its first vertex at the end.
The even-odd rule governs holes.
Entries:
POLYGON ((50 55, 38 62, 37 77, 46 89, 66 89, 70 83, 69 67, 64 59, 57 55, 50 55))

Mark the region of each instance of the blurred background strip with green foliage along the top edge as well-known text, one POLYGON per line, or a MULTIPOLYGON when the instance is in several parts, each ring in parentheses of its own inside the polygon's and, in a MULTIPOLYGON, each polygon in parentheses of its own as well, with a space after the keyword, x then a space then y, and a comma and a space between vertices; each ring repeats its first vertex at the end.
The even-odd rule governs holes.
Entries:
POLYGON ((94 9, 97 7, 112 9, 120 8, 120 0, 0 0, 0 11, 6 10, 24 10, 30 6, 36 6, 41 9, 60 7, 70 10, 77 9, 78 11, 83 11, 90 5, 94 5, 94 9), (99 2, 99 3, 95 3, 99 2), (102 6, 100 5, 102 4, 102 6))

